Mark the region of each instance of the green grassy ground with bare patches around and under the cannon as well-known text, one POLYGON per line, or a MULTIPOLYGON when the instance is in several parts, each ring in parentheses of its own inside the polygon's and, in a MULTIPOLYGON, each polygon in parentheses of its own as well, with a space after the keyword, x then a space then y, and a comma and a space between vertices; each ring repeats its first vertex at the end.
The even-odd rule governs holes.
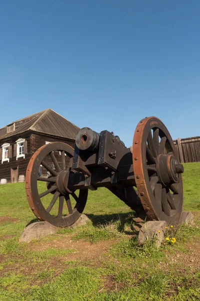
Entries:
MULTIPOLYGON (((184 164, 184 169, 184 210, 199 216, 200 163, 184 164)), ((150 241, 137 243, 134 213, 108 190, 89 191, 84 213, 90 219, 85 226, 19 244, 24 227, 37 219, 26 201, 24 183, 0 185, 0 216, 16 218, 0 223, 0 301, 200 299, 195 265, 176 259, 177 254, 190 256, 189 242, 199 250, 199 222, 174 230, 176 243, 157 250, 150 241), (77 243, 89 253, 90 246, 101 248, 108 242, 110 248, 98 258, 73 258, 77 243), (43 251, 40 245, 45 245, 43 251)))

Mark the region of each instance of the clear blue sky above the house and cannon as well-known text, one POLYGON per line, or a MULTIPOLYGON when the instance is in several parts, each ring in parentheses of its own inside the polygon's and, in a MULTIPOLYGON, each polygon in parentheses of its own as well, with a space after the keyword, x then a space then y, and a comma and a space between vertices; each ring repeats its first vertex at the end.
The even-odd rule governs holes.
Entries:
POLYGON ((1 1, 0 127, 52 108, 114 131, 200 135, 199 1, 1 1))

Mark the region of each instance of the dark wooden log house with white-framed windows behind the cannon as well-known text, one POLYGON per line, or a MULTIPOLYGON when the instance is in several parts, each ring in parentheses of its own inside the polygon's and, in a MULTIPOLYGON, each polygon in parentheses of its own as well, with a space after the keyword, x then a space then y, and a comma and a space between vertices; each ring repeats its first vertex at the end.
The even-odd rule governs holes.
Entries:
MULTIPOLYGON (((50 108, 0 128, 0 179, 18 182, 20 175, 25 176, 31 156, 43 144, 61 141, 74 147, 78 130, 50 108)), ((60 157, 57 153, 56 157, 60 157)))

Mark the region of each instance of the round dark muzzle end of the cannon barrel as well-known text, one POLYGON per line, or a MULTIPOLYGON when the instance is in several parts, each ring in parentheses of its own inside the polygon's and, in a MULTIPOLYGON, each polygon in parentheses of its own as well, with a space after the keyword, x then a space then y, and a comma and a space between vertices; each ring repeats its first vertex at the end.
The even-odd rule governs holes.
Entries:
POLYGON ((87 149, 95 152, 98 149, 99 134, 89 127, 83 127, 76 135, 75 144, 81 150, 87 149))

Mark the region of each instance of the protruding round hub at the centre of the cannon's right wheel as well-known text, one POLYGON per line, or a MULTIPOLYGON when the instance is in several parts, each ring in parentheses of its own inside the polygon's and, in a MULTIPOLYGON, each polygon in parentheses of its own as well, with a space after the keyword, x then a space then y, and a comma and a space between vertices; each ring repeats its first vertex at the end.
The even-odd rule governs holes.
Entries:
POLYGON ((164 186, 178 182, 179 174, 182 174, 184 168, 179 164, 173 155, 158 155, 156 159, 156 169, 159 181, 164 186))

